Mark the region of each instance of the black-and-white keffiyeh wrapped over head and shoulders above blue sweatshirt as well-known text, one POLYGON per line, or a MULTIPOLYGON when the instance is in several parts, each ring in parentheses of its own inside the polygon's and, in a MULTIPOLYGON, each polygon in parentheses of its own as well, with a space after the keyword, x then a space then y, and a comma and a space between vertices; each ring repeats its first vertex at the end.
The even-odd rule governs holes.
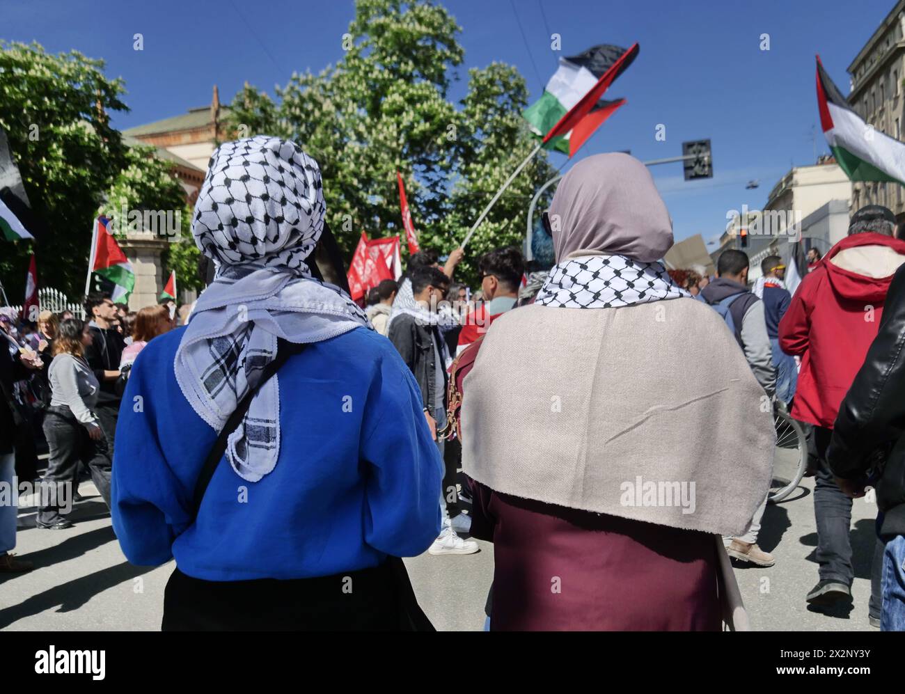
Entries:
MULTIPOLYGON (((276 356, 277 338, 319 342, 358 326, 365 313, 338 287, 314 279, 306 259, 324 227, 317 162, 270 136, 214 151, 195 203, 195 243, 217 266, 176 350, 176 381, 220 432, 276 356)), ((280 453, 279 376, 252 399, 226 456, 243 480, 273 470, 280 453)))

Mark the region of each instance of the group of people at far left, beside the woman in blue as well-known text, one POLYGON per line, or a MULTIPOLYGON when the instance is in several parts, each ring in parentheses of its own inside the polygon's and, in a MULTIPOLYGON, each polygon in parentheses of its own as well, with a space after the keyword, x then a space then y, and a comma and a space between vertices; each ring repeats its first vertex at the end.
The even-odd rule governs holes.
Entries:
MULTIPOLYGON (((10 489, 36 482, 37 528, 71 528, 86 476, 110 508, 110 471, 119 401, 138 352, 175 327, 169 306, 129 311, 100 292, 84 315, 42 310, 35 322, 0 309, 0 480, 10 489), (46 455, 41 454, 45 452, 46 455), (43 471, 39 458, 46 457, 43 471), (14 484, 14 482, 16 482, 14 484)), ((0 507, 0 571, 33 563, 15 557, 15 508, 0 507)))

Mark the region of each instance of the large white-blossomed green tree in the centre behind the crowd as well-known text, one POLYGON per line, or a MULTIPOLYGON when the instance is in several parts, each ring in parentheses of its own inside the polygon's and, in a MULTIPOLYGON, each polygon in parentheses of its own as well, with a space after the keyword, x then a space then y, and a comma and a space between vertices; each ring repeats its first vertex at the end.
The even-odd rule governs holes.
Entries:
MULTIPOLYGON (((511 66, 470 71, 468 95, 448 99, 460 31, 433 2, 358 0, 346 55, 316 75, 294 73, 276 101, 246 84, 228 130, 291 138, 318 161, 347 255, 362 230, 402 233, 396 171, 422 246, 449 252, 534 145, 520 118, 528 90, 511 66)), ((481 252, 521 242, 530 196, 552 175, 545 153, 519 175, 470 242, 463 277, 475 279, 481 252)))

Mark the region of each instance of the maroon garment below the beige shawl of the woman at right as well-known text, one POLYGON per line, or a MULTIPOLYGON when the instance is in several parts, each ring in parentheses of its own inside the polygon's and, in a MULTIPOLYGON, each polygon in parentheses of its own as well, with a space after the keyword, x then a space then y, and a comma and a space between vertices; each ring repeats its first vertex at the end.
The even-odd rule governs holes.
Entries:
POLYGON ((721 629, 713 535, 474 491, 492 631, 721 629))

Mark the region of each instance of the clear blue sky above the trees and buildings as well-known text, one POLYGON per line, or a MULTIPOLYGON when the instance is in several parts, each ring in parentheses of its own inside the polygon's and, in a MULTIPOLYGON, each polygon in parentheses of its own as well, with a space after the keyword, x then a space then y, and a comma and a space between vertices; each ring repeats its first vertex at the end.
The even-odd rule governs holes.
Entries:
MULTIPOLYGON (((638 59, 608 93, 628 103, 576 159, 624 149, 643 160, 674 157, 682 140, 710 138, 713 179, 686 183, 678 164, 652 169, 676 238, 710 239, 728 210, 760 207, 790 166, 814 163, 814 143, 818 155, 827 151, 814 53, 847 93, 845 68, 894 4, 445 0, 465 50, 452 97, 464 93, 469 67, 496 60, 519 68, 533 100, 559 55, 640 43, 638 59), (550 49, 550 33, 561 35, 562 52, 550 49), (769 51, 760 50, 762 33, 769 51), (658 124, 665 141, 654 138, 658 124), (751 179, 760 187, 746 190, 751 179)), ((352 0, 0 0, 0 38, 104 59, 108 74, 126 81, 131 111, 114 125, 129 128, 204 106, 214 83, 228 102, 244 81, 272 94, 293 70, 337 62, 352 14, 352 0), (144 51, 133 50, 134 33, 144 35, 144 51)), ((551 154, 554 166, 564 159, 551 154)))

